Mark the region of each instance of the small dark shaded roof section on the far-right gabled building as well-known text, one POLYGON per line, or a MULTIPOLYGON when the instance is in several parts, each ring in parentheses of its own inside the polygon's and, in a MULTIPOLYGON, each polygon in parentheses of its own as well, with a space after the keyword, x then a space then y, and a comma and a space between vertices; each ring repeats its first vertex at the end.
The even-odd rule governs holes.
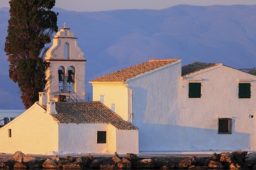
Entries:
POLYGON ((200 62, 195 62, 191 63, 186 66, 182 66, 182 76, 186 76, 191 73, 195 73, 201 70, 208 69, 213 66, 219 66, 220 63, 200 63, 200 62))

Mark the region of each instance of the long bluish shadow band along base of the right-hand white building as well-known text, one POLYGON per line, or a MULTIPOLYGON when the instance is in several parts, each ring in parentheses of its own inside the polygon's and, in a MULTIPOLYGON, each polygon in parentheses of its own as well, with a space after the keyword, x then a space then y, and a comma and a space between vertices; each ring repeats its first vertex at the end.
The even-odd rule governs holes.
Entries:
POLYGON ((171 124, 134 124, 139 130, 140 151, 229 151, 251 148, 251 134, 184 127, 171 124))

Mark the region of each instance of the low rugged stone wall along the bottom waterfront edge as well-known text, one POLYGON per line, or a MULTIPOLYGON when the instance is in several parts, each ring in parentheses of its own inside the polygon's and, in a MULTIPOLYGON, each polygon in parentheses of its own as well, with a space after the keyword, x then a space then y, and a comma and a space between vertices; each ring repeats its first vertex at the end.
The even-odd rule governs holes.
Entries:
POLYGON ((92 156, 90 154, 79 157, 41 156, 31 157, 16 151, 13 157, 0 158, 0 168, 56 168, 56 169, 231 169, 231 168, 256 168, 256 152, 247 151, 223 152, 212 155, 160 155, 156 157, 140 157, 134 154, 119 156, 115 153, 112 156, 92 156))

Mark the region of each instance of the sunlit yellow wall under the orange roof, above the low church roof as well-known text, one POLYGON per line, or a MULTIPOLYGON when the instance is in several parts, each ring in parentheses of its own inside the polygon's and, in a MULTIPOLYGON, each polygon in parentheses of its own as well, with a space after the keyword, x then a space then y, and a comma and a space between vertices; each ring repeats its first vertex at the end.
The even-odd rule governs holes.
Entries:
POLYGON ((93 100, 100 101, 100 97, 104 96, 104 102, 107 107, 112 108, 115 104, 115 112, 119 114, 125 121, 130 121, 129 111, 129 90, 125 83, 92 83, 93 100))

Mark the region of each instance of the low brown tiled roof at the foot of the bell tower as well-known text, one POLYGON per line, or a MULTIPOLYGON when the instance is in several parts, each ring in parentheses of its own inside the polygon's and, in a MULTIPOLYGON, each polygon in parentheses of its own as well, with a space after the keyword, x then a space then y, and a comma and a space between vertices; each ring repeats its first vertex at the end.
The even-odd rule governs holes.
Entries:
POLYGON ((52 114, 61 124, 112 124, 121 130, 137 128, 114 113, 99 101, 81 103, 56 103, 57 114, 52 114))

